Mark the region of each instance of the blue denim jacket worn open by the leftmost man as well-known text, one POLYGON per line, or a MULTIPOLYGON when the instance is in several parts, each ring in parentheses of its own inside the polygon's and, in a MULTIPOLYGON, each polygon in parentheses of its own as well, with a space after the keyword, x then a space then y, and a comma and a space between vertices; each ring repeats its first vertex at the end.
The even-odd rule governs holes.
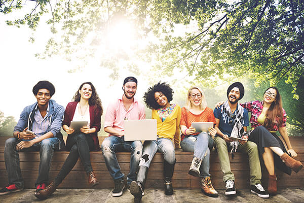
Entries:
MULTIPOLYGON (((17 125, 14 127, 15 131, 23 131, 24 128, 32 130, 34 115, 35 115, 35 108, 37 106, 37 102, 27 106, 23 109, 22 113, 20 114, 20 119, 17 125)), ((54 137, 59 139, 59 149, 63 150, 65 145, 62 137, 62 133, 60 132, 62 119, 64 115, 64 108, 61 105, 58 105, 55 100, 49 100, 50 110, 48 114, 49 126, 48 132, 52 132, 54 137)), ((28 140, 26 140, 28 141, 28 140)))

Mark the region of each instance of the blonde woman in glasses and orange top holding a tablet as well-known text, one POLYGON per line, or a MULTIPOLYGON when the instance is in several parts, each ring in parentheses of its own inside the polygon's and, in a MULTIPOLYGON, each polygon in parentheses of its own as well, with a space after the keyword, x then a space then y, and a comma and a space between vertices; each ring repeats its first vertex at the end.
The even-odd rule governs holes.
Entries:
POLYGON ((201 178, 201 190, 211 197, 217 197, 218 192, 213 188, 209 174, 210 150, 213 148, 213 138, 216 129, 209 128, 207 132, 196 132, 193 122, 215 122, 212 109, 207 107, 203 90, 192 87, 187 93, 186 106, 181 108, 181 143, 183 151, 194 152, 189 174, 201 178))

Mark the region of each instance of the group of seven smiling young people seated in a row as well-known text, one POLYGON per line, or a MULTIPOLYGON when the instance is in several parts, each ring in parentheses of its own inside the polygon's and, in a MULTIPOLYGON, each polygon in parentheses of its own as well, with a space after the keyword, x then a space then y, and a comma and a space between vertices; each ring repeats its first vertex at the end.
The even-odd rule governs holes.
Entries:
MULTIPOLYGON (((294 159, 297 154, 287 135, 286 112, 282 108, 281 96, 276 87, 268 88, 262 101, 239 104, 245 91, 242 83, 235 82, 227 89, 227 100, 218 103, 212 111, 207 107, 204 92, 199 87, 188 90, 186 105, 180 108, 178 104, 171 103, 172 88, 159 82, 149 87, 143 96, 146 106, 152 109, 152 119, 157 121, 157 140, 145 141, 143 145, 141 141, 124 139, 124 120, 145 119, 143 104, 134 98, 136 89, 137 79, 127 77, 123 82, 124 94, 108 106, 105 114, 104 131, 109 136, 102 142, 101 150, 115 183, 112 196, 121 196, 127 186, 127 190, 134 195, 134 202, 141 202, 148 168, 156 152, 161 152, 164 156, 165 194, 172 195, 175 149, 178 148, 194 152, 189 174, 201 179, 202 192, 211 197, 218 196, 209 174, 210 151, 213 147, 217 151, 223 172, 225 195, 236 194, 229 153, 241 151, 248 154, 251 192, 262 198, 268 198, 269 194, 277 192, 275 166, 289 175, 291 170, 297 173, 302 168, 301 162, 294 159), (248 112, 251 112, 250 131, 247 131, 248 112), (208 129, 208 133, 199 132, 192 126, 193 122, 213 122, 214 126, 208 129), (281 134, 287 150, 276 131, 281 134), (121 151, 131 152, 127 177, 121 172, 116 157, 116 152, 121 151), (267 191, 261 185, 260 158, 269 173, 267 191)), ((34 193, 39 199, 45 199, 55 192, 79 157, 88 176, 89 186, 93 188, 98 185, 90 161, 90 151, 100 150, 97 132, 100 130, 103 109, 93 84, 81 84, 65 110, 51 99, 55 87, 49 81, 38 82, 32 92, 37 102, 24 108, 14 128, 14 138, 5 143, 9 185, 1 189, 0 194, 17 192, 24 187, 19 151, 40 151, 39 175, 34 193), (71 121, 87 121, 88 124, 75 131, 71 127, 71 121), (65 144, 61 127, 68 134, 65 144), (53 152, 64 149, 69 151, 69 155, 59 174, 47 186, 53 152)))

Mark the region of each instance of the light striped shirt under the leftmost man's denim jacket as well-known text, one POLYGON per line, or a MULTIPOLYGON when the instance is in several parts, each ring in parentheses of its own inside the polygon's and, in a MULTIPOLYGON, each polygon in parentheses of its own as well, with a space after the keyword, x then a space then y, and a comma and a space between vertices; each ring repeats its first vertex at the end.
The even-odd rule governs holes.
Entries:
POLYGON ((48 119, 49 111, 50 111, 50 105, 48 105, 47 114, 43 118, 38 109, 38 105, 35 108, 32 131, 36 134, 37 137, 43 136, 45 133, 48 132, 48 127, 50 124, 50 121, 48 119))

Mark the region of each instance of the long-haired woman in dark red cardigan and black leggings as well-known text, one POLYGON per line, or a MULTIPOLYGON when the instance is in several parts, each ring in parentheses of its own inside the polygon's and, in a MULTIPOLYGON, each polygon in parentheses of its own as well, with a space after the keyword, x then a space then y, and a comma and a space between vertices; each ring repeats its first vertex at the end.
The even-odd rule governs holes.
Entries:
POLYGON ((91 82, 83 83, 73 100, 67 104, 62 122, 62 128, 68 134, 66 148, 70 153, 54 181, 45 189, 36 192, 35 196, 40 199, 47 198, 56 190, 79 157, 89 177, 89 185, 93 187, 98 184, 90 161, 90 151, 100 150, 97 132, 100 130, 102 115, 101 100, 91 82), (88 125, 80 128, 80 131, 75 131, 70 127, 71 121, 88 121, 88 125))

